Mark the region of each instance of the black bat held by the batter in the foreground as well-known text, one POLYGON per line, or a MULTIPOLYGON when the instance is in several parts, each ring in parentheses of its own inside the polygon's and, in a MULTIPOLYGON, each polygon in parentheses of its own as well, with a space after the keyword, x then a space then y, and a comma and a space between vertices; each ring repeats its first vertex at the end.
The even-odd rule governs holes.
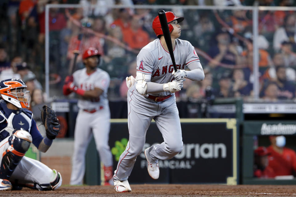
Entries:
POLYGON ((164 39, 165 39, 166 44, 167 44, 167 49, 169 50, 169 53, 171 55, 174 70, 175 70, 175 72, 177 72, 177 66, 176 66, 176 62, 175 62, 175 56, 174 56, 174 51, 173 51, 171 33, 170 33, 170 30, 169 30, 169 26, 167 25, 167 17, 166 17, 165 11, 164 10, 159 10, 158 11, 158 17, 159 17, 162 33, 163 33, 164 39))

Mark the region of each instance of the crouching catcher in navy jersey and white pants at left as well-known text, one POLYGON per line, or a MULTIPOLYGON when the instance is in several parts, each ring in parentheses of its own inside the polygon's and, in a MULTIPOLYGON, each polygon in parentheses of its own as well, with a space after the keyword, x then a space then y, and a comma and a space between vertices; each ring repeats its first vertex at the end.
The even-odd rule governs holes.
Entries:
POLYGON ((46 152, 58 135, 59 123, 54 113, 52 118, 57 122, 57 132, 42 137, 32 112, 26 109, 30 99, 26 88, 21 79, 0 82, 0 190, 20 190, 22 187, 55 190, 62 184, 60 173, 24 155, 31 143, 39 151, 46 152))

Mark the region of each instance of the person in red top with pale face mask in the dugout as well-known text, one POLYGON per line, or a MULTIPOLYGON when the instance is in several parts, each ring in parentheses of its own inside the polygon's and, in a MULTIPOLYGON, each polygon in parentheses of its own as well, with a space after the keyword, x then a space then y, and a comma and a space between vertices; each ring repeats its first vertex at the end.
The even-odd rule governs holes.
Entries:
POLYGON ((271 145, 267 147, 269 152, 268 167, 273 169, 275 176, 296 175, 296 153, 285 147, 285 136, 270 136, 271 145))

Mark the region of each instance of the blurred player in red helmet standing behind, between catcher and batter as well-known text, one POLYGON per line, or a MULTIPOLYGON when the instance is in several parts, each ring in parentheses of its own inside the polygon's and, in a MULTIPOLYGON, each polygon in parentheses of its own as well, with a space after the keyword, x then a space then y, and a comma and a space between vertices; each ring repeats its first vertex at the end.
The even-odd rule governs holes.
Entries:
POLYGON ((79 96, 70 184, 82 184, 85 172, 85 153, 94 136, 97 151, 104 163, 105 185, 109 185, 109 182, 113 184, 112 154, 108 145, 110 109, 107 91, 110 77, 107 72, 97 68, 100 61, 97 49, 89 48, 82 58, 85 68, 66 77, 63 87, 64 95, 75 92, 79 96))

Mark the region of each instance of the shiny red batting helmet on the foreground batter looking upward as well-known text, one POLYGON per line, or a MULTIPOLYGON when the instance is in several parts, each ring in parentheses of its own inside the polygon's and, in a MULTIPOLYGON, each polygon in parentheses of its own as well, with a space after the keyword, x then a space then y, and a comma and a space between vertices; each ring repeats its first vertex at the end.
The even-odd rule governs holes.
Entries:
MULTIPOLYGON (((184 20, 184 17, 176 17, 176 15, 173 12, 165 12, 165 13, 166 13, 166 17, 167 17, 167 23, 172 22, 173 20, 177 20, 179 23, 184 20)), ((174 27, 171 24, 168 24, 168 26, 169 26, 170 32, 172 32, 174 27)), ((163 34, 158 16, 154 18, 154 20, 152 22, 152 28, 153 28, 154 33, 156 34, 157 37, 163 34)))

